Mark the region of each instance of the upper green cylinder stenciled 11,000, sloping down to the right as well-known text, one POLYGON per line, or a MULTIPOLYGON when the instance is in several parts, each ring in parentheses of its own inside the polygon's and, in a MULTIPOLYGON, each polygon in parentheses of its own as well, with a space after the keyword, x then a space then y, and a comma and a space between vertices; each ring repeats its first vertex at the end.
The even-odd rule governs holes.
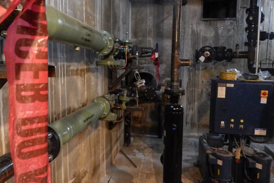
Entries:
POLYGON ((111 53, 114 40, 106 31, 97 31, 85 23, 46 5, 48 39, 79 47, 91 49, 98 55, 111 53))

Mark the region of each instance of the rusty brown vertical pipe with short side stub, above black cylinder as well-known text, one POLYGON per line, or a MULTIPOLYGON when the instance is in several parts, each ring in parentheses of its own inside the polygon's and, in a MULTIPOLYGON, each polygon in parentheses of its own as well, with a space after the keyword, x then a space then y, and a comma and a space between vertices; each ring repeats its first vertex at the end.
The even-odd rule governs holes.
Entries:
POLYGON ((181 5, 182 0, 173 1, 173 24, 172 24, 172 54, 170 89, 179 90, 179 73, 181 66, 191 66, 190 59, 180 59, 180 37, 181 37, 181 5))

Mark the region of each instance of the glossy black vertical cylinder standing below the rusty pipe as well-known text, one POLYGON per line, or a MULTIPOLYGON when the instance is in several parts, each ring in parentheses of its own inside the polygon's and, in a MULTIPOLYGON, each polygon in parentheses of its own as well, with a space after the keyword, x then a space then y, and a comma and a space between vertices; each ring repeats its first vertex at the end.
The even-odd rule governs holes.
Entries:
POLYGON ((171 95, 165 106, 163 183, 181 183, 184 108, 171 95))

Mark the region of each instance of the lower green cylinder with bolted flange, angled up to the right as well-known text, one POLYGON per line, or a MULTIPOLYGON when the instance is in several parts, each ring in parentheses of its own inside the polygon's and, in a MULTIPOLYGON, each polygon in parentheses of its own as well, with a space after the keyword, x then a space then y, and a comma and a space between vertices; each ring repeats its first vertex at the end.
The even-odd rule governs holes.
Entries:
POLYGON ((83 107, 48 126, 58 134, 60 145, 62 146, 68 143, 68 141, 83 131, 83 129, 92 122, 99 118, 106 117, 110 109, 111 103, 108 99, 97 97, 91 105, 83 107))

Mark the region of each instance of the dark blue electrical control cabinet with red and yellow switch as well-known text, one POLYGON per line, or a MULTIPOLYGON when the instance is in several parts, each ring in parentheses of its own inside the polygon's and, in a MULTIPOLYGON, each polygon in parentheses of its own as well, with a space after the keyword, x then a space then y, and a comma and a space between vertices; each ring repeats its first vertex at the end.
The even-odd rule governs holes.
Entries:
POLYGON ((225 81, 211 84, 212 133, 273 137, 274 81, 225 81))

